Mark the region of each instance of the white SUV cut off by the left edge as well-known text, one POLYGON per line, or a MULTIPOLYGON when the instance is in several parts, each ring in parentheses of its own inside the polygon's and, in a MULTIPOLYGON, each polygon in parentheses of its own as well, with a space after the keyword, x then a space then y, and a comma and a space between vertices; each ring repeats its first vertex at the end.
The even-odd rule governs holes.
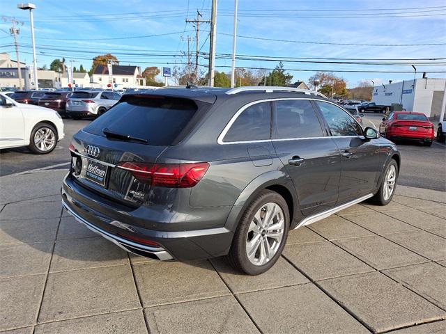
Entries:
POLYGON ((0 93, 0 149, 28 146, 36 154, 52 152, 65 134, 59 113, 17 103, 0 93))

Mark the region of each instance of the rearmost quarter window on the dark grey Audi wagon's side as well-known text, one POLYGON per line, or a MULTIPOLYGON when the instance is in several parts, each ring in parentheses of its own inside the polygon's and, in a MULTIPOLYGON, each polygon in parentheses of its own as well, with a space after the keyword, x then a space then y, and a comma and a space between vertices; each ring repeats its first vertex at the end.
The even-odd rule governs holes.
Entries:
POLYGON ((261 102, 247 107, 231 125, 224 142, 270 139, 271 104, 261 102))

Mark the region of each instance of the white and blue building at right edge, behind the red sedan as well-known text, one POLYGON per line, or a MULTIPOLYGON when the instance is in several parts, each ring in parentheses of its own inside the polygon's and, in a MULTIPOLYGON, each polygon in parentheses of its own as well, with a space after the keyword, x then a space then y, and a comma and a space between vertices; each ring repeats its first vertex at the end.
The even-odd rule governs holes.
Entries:
POLYGON ((371 102, 385 106, 402 104, 406 111, 424 113, 427 117, 440 116, 445 85, 443 78, 422 78, 375 86, 371 102))

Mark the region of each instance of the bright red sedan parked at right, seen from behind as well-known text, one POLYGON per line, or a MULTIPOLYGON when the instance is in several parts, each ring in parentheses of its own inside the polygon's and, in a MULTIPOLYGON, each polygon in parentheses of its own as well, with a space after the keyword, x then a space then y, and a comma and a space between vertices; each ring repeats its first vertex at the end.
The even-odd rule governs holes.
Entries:
POLYGON ((424 113, 394 111, 383 118, 379 132, 391 141, 418 141, 426 146, 432 145, 433 141, 433 124, 424 113))

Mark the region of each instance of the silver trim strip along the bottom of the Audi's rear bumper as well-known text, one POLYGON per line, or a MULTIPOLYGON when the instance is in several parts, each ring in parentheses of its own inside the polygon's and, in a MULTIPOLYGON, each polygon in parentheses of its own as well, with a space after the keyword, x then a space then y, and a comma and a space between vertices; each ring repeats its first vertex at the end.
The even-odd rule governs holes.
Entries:
MULTIPOLYGON (((73 217, 75 217, 75 219, 77 221, 79 221, 79 223, 86 225, 87 228, 89 228, 90 230, 92 230, 95 233, 100 234, 101 237, 104 237, 105 239, 112 241, 116 246, 118 246, 119 248, 122 248, 126 252, 133 253, 131 248, 135 248, 137 250, 141 250, 146 253, 151 253, 151 254, 155 255, 161 261, 173 260, 173 257, 169 253, 167 253, 166 250, 157 250, 157 249, 162 249, 162 248, 151 248, 148 246, 137 244, 137 243, 132 242, 127 239, 123 239, 123 238, 118 237, 114 234, 110 234, 109 232, 105 232, 105 230, 97 228, 95 225, 89 223, 84 218, 82 218, 81 216, 79 216, 78 214, 73 212, 72 209, 70 209, 70 207, 68 207, 68 205, 66 204, 66 202, 64 200, 62 200, 62 205, 63 205, 63 207, 66 208, 67 212, 70 215, 72 215, 73 217), (125 247, 126 244, 128 245, 128 247, 130 249, 125 247)), ((137 254, 137 253, 133 253, 133 254, 141 256, 140 254, 137 254)))

